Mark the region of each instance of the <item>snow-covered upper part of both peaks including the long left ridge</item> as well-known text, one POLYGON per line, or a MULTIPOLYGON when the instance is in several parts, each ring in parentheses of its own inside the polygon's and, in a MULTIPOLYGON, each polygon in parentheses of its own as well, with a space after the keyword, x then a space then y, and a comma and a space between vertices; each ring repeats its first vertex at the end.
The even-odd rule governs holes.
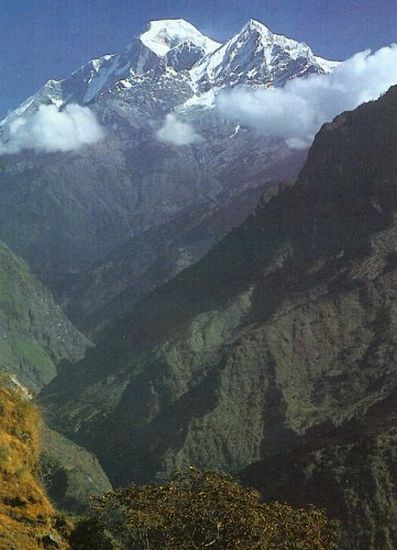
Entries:
POLYGON ((183 19, 152 21, 121 53, 92 59, 63 80, 49 80, 2 125, 42 103, 58 108, 72 102, 85 105, 109 91, 135 91, 142 75, 153 80, 167 74, 178 81, 183 75, 191 91, 188 99, 197 105, 211 90, 238 84, 282 86, 292 78, 332 71, 336 65, 255 20, 223 45, 183 19))

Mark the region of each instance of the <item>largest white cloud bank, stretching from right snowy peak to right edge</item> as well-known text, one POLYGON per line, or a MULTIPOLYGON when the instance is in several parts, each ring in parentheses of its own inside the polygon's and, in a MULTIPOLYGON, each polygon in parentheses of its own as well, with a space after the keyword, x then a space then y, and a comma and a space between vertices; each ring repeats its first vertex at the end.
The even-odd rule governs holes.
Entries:
POLYGON ((397 83, 397 45, 360 52, 333 73, 287 82, 284 88, 236 88, 222 92, 217 108, 226 119, 245 124, 290 147, 308 147, 321 126, 342 111, 377 99, 397 83))

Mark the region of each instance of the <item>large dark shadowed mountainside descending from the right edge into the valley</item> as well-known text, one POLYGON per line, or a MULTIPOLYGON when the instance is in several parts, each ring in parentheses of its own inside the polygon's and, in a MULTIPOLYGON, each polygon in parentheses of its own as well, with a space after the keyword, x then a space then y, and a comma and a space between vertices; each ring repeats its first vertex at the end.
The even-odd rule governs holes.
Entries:
MULTIPOLYGON (((358 437, 397 385, 396 149, 397 88, 325 125, 294 186, 59 373, 42 395, 53 426, 116 484, 236 471, 348 421, 358 437)), ((385 503, 377 526, 357 518, 368 536, 385 503)))

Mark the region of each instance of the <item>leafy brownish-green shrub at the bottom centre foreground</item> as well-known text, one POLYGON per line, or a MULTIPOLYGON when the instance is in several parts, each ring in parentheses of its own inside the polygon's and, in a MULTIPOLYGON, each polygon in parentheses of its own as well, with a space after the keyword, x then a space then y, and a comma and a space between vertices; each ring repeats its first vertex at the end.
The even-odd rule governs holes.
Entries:
POLYGON ((251 550, 336 548, 335 532, 314 507, 263 504, 230 476, 189 469, 166 485, 130 485, 92 499, 76 528, 75 550, 251 550))

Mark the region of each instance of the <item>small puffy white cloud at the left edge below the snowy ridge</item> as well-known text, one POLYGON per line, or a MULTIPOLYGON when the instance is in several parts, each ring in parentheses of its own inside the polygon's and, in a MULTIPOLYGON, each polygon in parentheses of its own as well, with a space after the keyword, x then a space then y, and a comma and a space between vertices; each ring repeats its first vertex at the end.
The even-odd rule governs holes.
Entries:
POLYGON ((54 153, 74 151, 96 143, 104 136, 94 113, 88 107, 70 104, 63 111, 55 105, 40 105, 37 111, 10 123, 8 139, 0 143, 0 154, 23 149, 54 153))

